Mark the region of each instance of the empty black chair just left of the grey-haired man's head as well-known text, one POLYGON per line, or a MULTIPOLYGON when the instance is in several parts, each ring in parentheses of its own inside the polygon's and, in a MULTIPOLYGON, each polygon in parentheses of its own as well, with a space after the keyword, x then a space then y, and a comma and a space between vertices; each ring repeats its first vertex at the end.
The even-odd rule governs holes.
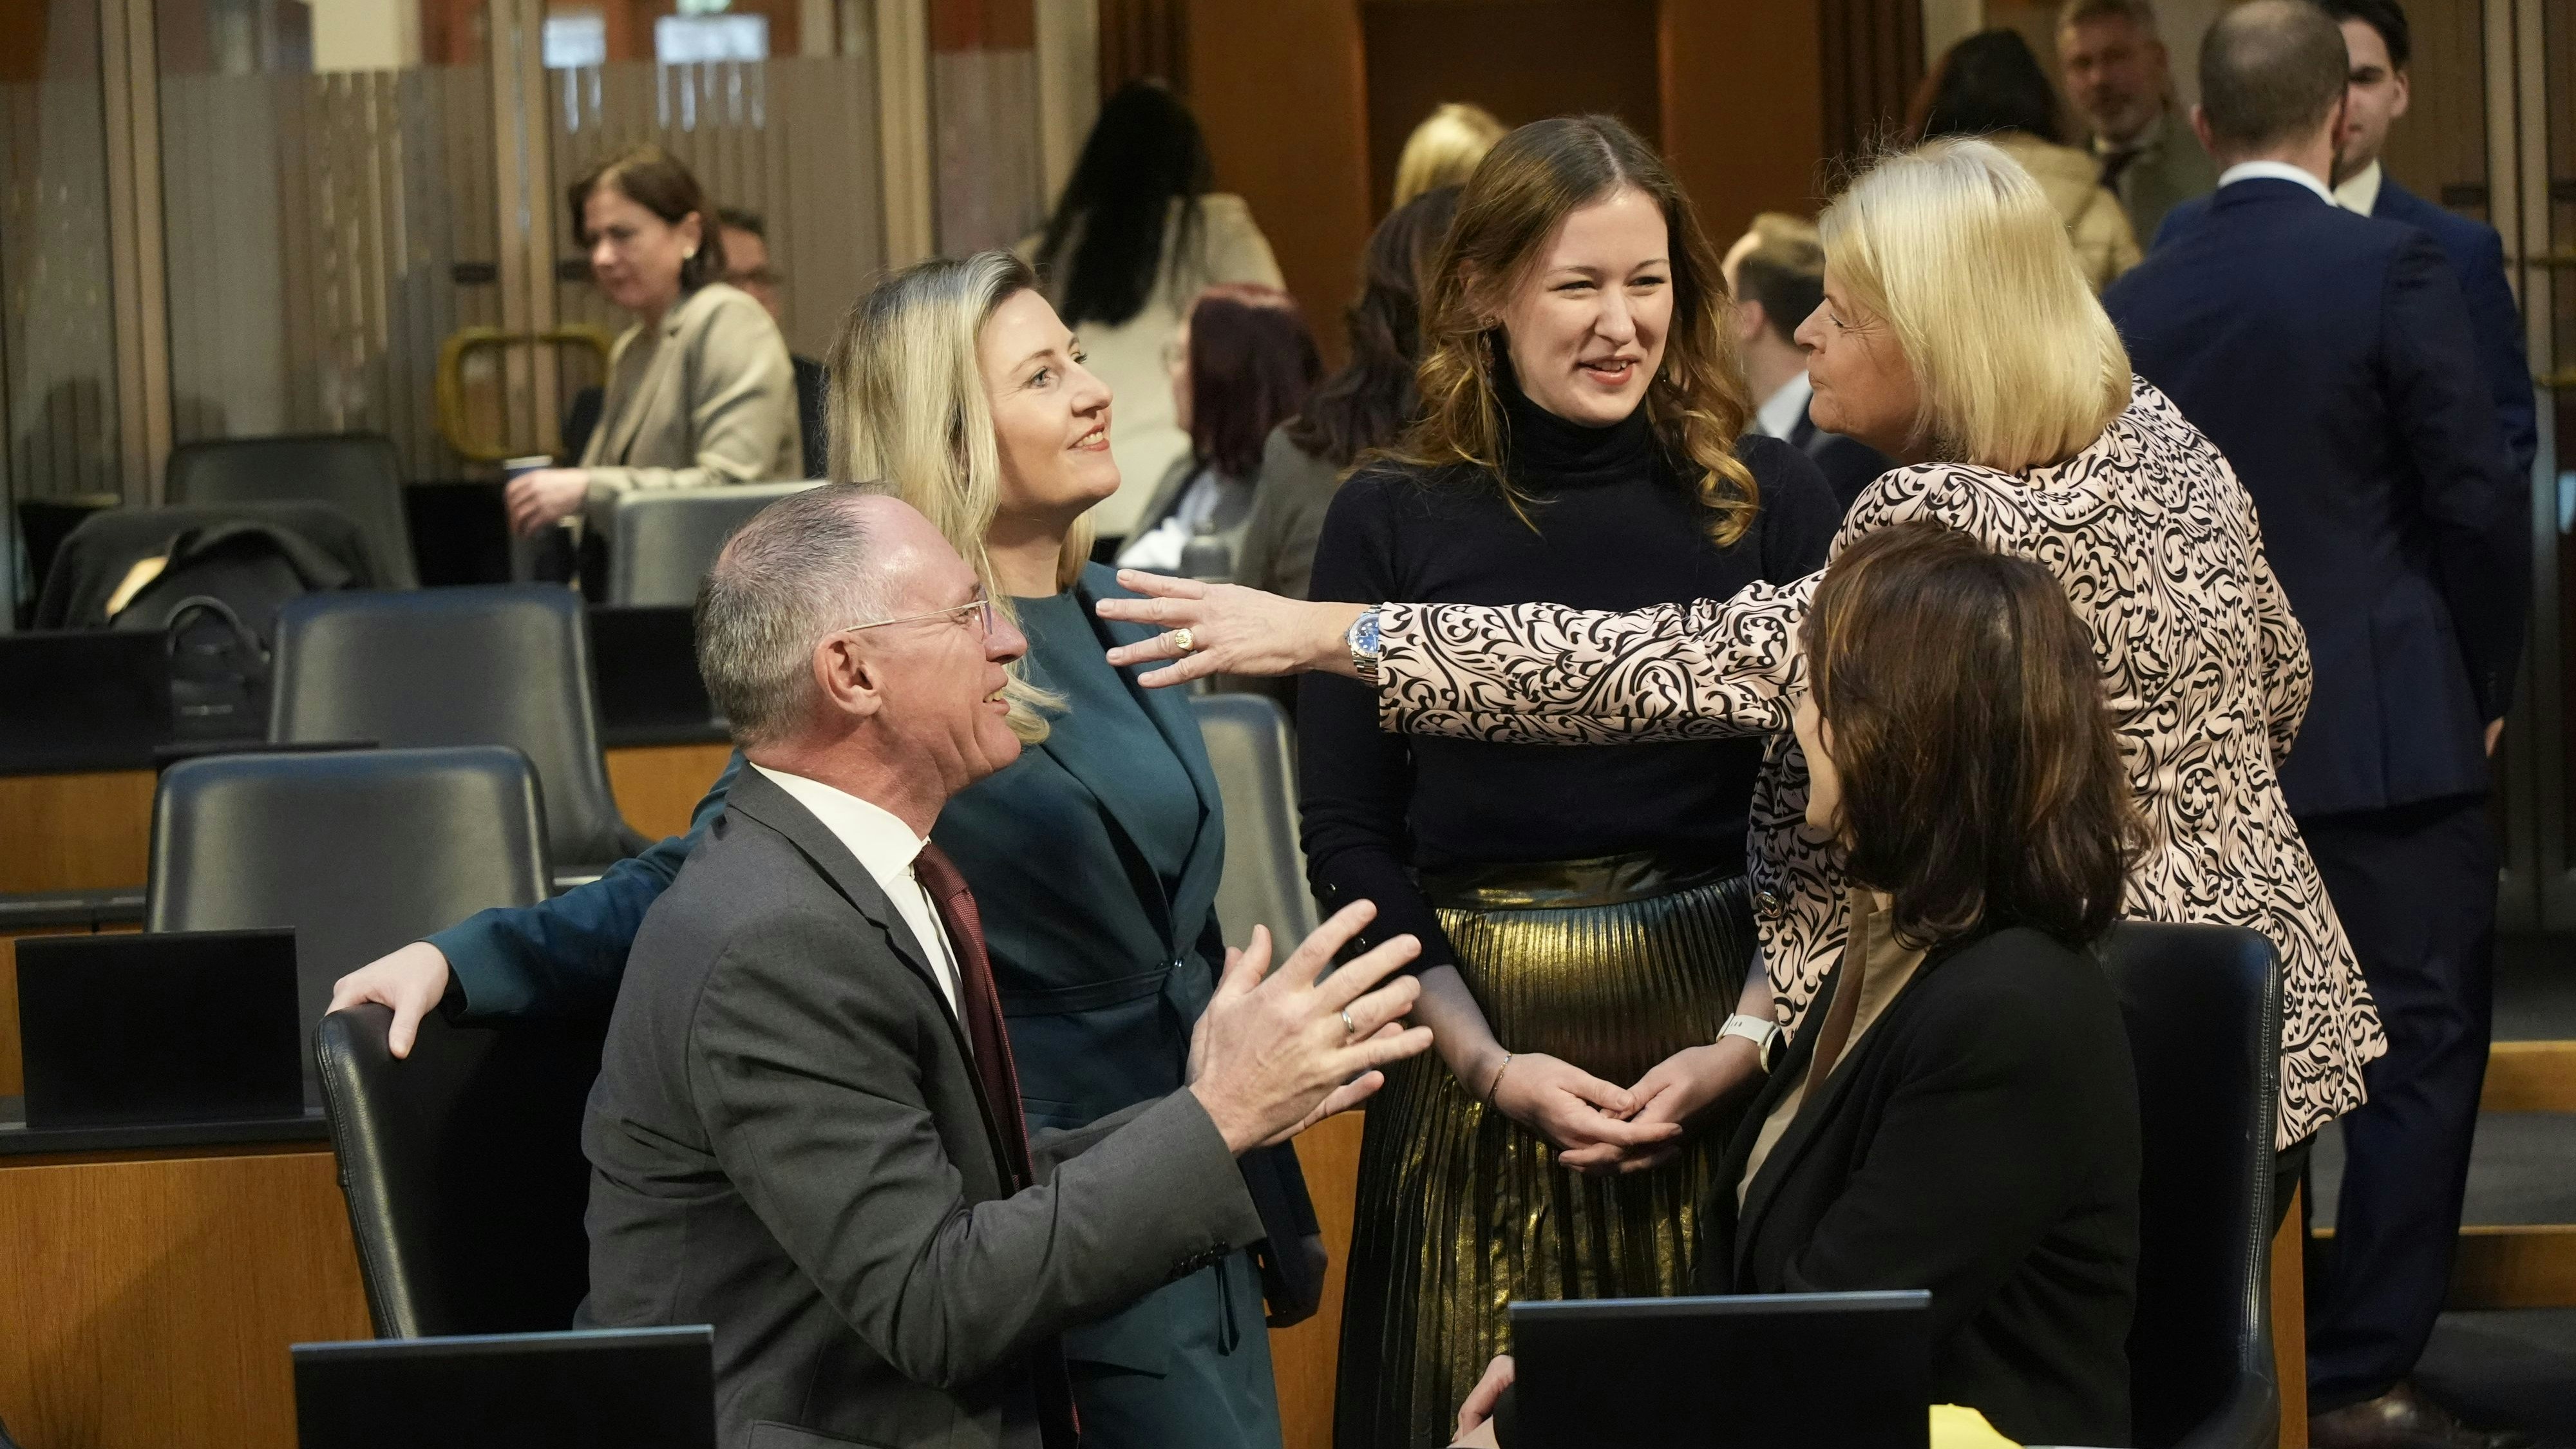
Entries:
POLYGON ((314 593, 278 611, 268 737, 510 745, 567 877, 636 853, 600 755, 582 601, 559 585, 314 593))

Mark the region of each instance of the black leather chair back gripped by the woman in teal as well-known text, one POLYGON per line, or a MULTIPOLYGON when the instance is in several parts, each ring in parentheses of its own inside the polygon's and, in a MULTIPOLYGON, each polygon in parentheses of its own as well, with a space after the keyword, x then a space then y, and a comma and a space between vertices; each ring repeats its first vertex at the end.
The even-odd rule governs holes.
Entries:
POLYGON ((394 1013, 335 1011, 314 1034, 340 1191, 379 1338, 569 1328, 590 1289, 582 1104, 605 1018, 453 1026, 412 1055, 394 1013))

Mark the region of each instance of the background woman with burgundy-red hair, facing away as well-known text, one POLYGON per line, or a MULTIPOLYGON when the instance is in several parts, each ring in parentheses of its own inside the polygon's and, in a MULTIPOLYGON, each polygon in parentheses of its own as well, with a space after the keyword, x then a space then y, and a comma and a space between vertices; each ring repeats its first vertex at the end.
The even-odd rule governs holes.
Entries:
POLYGON ((1190 433, 1190 456, 1154 485, 1118 567, 1231 578, 1252 521, 1262 441, 1306 405, 1324 361, 1285 291, 1211 286, 1172 338, 1170 369, 1172 410, 1190 433), (1190 541, 1200 536, 1224 557, 1193 554, 1190 541))

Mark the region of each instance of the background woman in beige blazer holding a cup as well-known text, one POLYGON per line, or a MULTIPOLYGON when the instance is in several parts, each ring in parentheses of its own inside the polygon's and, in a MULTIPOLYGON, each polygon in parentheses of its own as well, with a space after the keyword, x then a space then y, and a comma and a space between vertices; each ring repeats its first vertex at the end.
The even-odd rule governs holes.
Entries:
POLYGON ((698 178, 659 147, 572 183, 572 224, 600 291, 636 315, 608 351, 608 394, 580 467, 510 480, 510 526, 536 536, 626 492, 804 477, 796 366, 778 322, 724 276, 698 178))

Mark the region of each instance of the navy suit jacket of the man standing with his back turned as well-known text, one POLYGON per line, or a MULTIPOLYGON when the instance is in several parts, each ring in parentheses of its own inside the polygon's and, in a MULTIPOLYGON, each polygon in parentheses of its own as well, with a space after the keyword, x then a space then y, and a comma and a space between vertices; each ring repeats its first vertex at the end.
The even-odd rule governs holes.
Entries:
POLYGON ((2218 443, 2308 629, 2316 696, 2280 786, 2298 817, 2488 784, 2530 601, 2530 477, 2442 248, 2293 180, 2177 214, 2102 307, 2218 443))

